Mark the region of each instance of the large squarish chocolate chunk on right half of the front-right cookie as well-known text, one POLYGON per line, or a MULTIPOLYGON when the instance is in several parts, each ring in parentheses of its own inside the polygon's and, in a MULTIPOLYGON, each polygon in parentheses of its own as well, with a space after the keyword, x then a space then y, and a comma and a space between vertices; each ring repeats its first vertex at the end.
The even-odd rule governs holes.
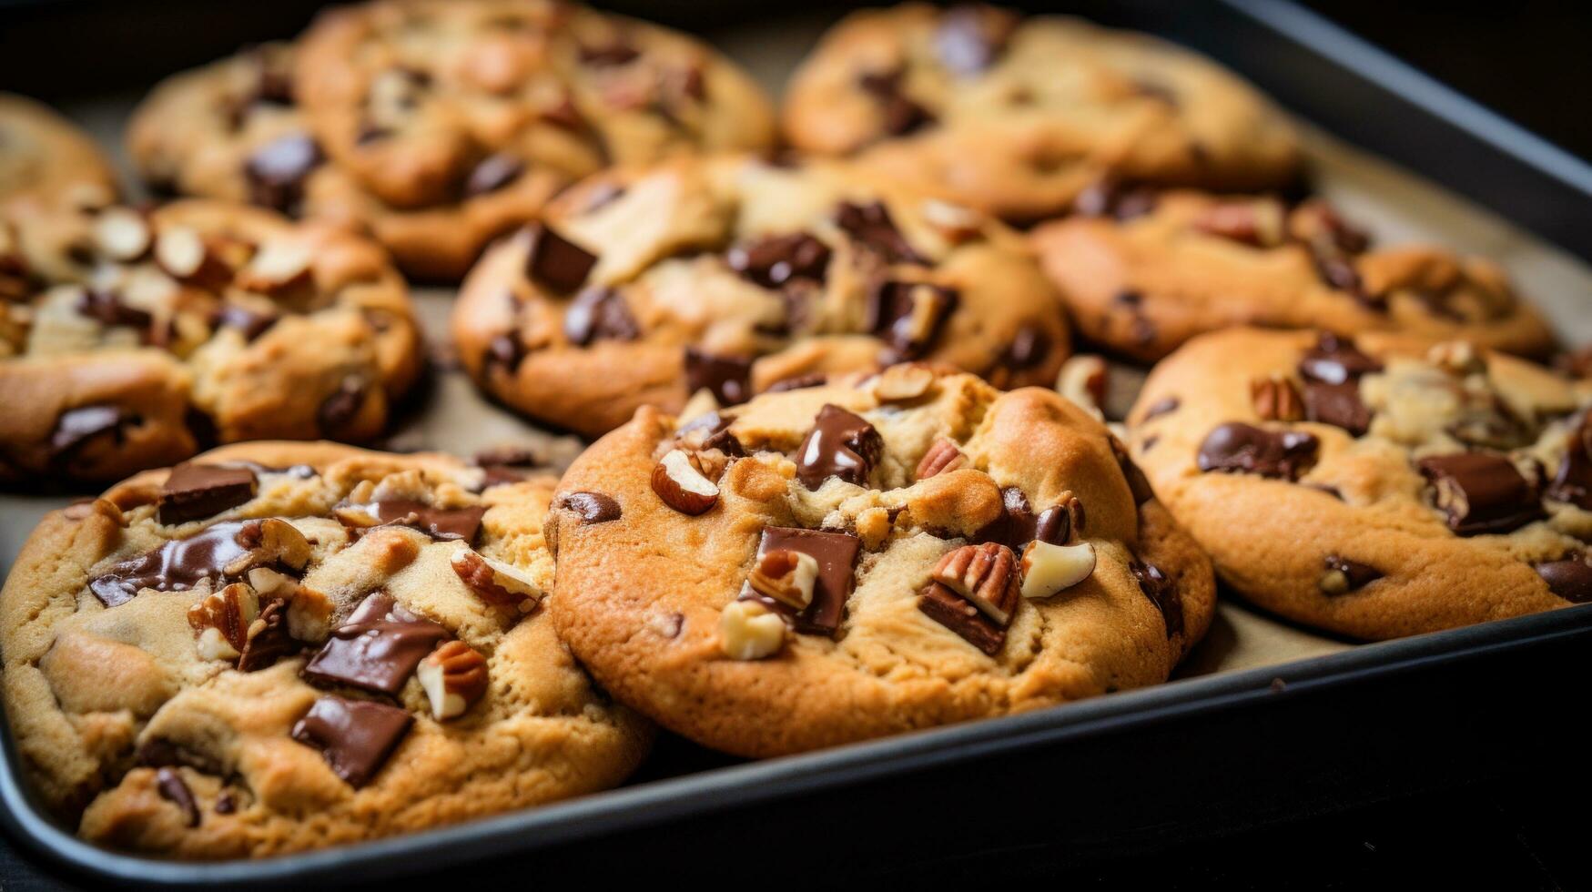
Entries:
POLYGON ((1509 532, 1543 516, 1536 487, 1504 456, 1430 456, 1420 460, 1420 473, 1458 535, 1509 532))

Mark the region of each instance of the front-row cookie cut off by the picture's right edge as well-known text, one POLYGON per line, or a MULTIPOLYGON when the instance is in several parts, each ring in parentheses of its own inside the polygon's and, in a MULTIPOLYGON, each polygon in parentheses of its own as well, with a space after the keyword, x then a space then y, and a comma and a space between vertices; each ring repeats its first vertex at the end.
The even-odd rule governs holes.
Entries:
POLYGON ((1463 342, 1235 328, 1157 365, 1129 422, 1234 589, 1390 639, 1592 601, 1589 405, 1463 342))

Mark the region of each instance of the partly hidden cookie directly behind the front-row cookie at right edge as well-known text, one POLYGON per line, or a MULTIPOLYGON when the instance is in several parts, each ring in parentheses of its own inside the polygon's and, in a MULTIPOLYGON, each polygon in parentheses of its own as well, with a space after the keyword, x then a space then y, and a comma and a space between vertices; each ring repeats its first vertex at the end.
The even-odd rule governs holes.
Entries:
POLYGON ((1102 183, 1033 231, 1081 336, 1140 362, 1231 325, 1393 331, 1544 357, 1554 334, 1487 260, 1366 233, 1320 199, 1102 183))

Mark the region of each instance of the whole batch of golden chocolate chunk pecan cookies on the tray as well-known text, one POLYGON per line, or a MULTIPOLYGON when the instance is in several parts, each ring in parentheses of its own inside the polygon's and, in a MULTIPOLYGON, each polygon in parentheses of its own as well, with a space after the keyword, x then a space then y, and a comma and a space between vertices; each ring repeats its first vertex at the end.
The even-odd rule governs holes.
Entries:
POLYGON ((1149 37, 858 13, 777 121, 657 25, 371 0, 172 76, 126 153, 170 201, 0 97, 0 486, 119 481, 11 564, 0 685, 105 846, 283 854, 613 787, 656 726, 761 758, 1154 685, 1218 580, 1356 639, 1592 601, 1586 370, 1149 37), (458 284, 446 331, 408 282, 458 284), (360 448, 435 408, 427 339, 586 451, 360 448), (1079 346, 1154 366, 1130 411, 1079 346))

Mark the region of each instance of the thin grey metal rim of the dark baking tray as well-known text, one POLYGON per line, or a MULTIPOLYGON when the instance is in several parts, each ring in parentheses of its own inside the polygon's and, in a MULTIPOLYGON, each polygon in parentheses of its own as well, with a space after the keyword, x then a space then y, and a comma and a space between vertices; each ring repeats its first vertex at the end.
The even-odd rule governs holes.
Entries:
MULTIPOLYGON (((1212 6, 1270 32, 1293 49, 1315 53, 1344 76, 1364 80, 1393 99, 1414 105, 1436 123, 1496 151, 1520 170, 1551 178, 1574 193, 1574 201, 1592 199, 1592 166, 1320 14, 1288 0, 1213 0, 1212 6)), ((1253 73, 1250 76, 1261 83, 1266 80, 1253 73)), ((1430 174, 1423 177, 1431 178, 1430 174)), ((1465 188, 1446 185, 1469 196, 1465 188)), ((1517 221, 1496 204, 1487 204, 1504 218, 1517 221)), ((1538 236, 1565 245, 1554 236, 1538 236)), ((1592 253, 1579 245, 1565 247, 1592 260, 1592 253)), ((699 771, 436 830, 264 860, 175 862, 119 854, 78 839, 35 806, 19 773, 10 722, 0 718, 0 828, 51 867, 99 881, 188 887, 220 882, 261 886, 326 881, 336 871, 352 867, 365 870, 361 879, 377 879, 406 868, 392 857, 396 854, 425 852, 430 859, 428 871, 494 854, 530 854, 603 833, 702 814, 728 801, 729 795, 737 804, 771 801, 863 779, 903 776, 957 761, 1130 733, 1191 714, 1264 707, 1377 677, 1504 656, 1571 637, 1592 637, 1592 605, 1363 644, 1275 666, 1180 679, 1022 715, 699 771)))

